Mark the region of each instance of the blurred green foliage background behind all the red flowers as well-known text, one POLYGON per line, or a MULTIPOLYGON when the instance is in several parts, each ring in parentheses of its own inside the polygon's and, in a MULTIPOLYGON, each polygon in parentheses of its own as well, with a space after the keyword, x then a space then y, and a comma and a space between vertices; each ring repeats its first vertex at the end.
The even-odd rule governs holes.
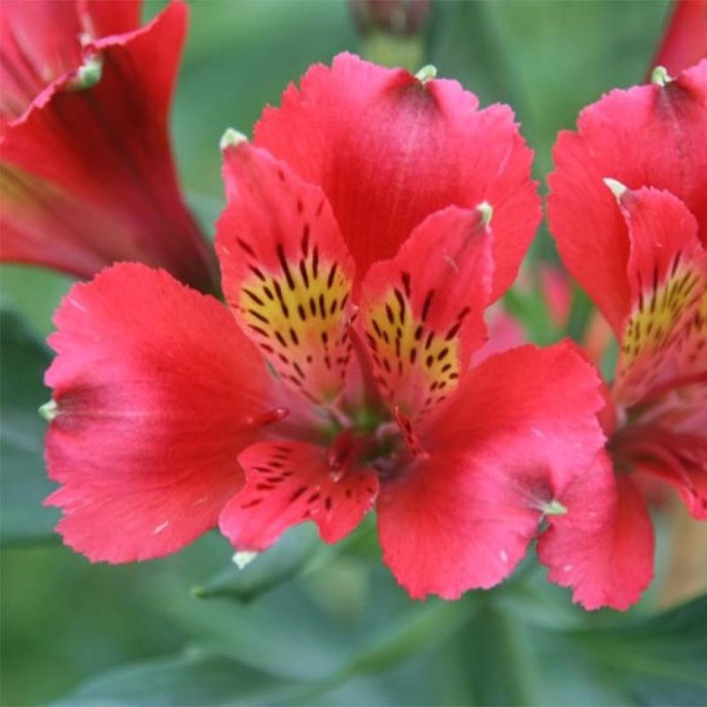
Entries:
MULTIPOLYGON (((148 3, 146 17, 162 5, 148 3)), ((310 64, 362 45, 344 0, 191 6, 173 136, 210 230, 223 130, 250 133, 310 64)), ((666 13, 665 1, 438 2, 421 63, 482 105, 510 103, 544 180, 556 132, 604 91, 643 80, 666 13)), ((385 44, 371 47, 385 58, 385 44)), ((530 258, 552 257, 541 233, 530 258)), ((49 484, 34 411, 48 397, 48 358, 35 337, 68 286, 2 269, 3 303, 20 314, 3 324, 3 414, 21 419, 4 430, 4 705, 707 703, 705 602, 655 617, 671 542, 662 517, 658 580, 626 615, 580 612, 532 559, 493 592, 410 602, 380 564, 372 520, 333 550, 298 528, 243 572, 215 533, 169 559, 91 566, 52 536, 55 515, 40 507, 49 484)), ((562 333, 537 299, 510 304, 536 341, 562 333)))

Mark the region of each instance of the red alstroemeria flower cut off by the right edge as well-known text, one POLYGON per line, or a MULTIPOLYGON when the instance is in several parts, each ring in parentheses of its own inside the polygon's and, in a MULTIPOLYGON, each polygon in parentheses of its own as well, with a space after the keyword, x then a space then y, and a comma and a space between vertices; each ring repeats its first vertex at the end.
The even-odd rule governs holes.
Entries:
MULTIPOLYGON (((615 90, 563 132, 550 230, 566 267, 619 344, 602 413, 613 468, 611 522, 549 534, 541 557, 585 602, 602 587, 638 599, 653 574, 653 527, 632 474, 665 479, 707 518, 707 61, 671 80, 615 90)), ((570 523, 569 517, 559 521, 570 523)))

